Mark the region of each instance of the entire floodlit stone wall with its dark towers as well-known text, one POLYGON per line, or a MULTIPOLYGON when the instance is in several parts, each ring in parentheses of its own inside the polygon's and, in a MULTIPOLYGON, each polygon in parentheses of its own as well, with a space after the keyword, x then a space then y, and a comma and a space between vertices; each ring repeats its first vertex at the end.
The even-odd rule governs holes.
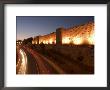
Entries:
POLYGON ((56 32, 37 36, 33 44, 94 44, 94 23, 88 22, 72 28, 58 28, 56 32))

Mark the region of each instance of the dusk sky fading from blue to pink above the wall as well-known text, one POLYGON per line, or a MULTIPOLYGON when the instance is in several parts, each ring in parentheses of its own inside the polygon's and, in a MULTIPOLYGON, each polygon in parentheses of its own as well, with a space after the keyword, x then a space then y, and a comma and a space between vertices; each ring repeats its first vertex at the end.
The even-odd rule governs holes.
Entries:
POLYGON ((17 16, 16 20, 17 40, 23 40, 94 21, 94 16, 17 16))

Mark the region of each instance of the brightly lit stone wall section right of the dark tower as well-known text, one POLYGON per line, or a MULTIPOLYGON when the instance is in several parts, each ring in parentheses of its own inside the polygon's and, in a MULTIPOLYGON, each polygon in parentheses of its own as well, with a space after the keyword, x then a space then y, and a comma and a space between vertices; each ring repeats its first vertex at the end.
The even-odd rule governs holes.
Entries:
POLYGON ((63 44, 94 44, 94 23, 88 22, 73 28, 62 30, 63 44))

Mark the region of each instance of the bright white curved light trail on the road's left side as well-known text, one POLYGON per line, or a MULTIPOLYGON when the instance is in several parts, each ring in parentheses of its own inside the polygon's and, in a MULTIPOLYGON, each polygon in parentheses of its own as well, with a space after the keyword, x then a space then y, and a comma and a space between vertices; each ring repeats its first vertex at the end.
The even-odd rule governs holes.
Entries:
POLYGON ((20 65, 20 68, 18 70, 18 74, 26 74, 26 71, 27 71, 27 55, 22 49, 20 49, 19 52, 21 55, 21 58, 20 58, 21 65, 20 65))

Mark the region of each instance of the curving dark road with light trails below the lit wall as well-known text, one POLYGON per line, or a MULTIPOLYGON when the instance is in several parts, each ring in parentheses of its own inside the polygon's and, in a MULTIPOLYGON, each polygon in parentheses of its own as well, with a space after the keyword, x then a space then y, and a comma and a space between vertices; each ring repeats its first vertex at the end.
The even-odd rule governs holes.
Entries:
POLYGON ((65 72, 51 60, 37 51, 26 47, 18 47, 17 74, 64 74, 65 72), (19 49, 18 49, 19 48, 19 49))

